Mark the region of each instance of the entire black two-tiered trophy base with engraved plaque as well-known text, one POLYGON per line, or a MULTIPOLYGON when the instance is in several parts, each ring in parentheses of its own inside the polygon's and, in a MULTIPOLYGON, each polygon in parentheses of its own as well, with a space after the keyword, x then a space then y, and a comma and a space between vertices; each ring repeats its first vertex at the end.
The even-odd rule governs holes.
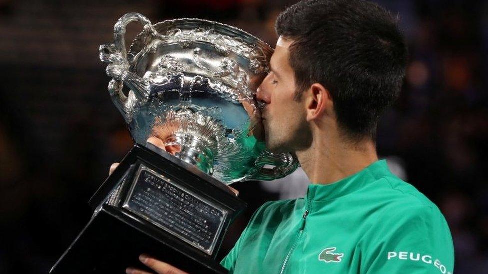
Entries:
POLYGON ((136 144, 90 199, 94 214, 50 273, 150 271, 148 254, 189 273, 227 273, 215 261, 246 204, 195 166, 136 144))

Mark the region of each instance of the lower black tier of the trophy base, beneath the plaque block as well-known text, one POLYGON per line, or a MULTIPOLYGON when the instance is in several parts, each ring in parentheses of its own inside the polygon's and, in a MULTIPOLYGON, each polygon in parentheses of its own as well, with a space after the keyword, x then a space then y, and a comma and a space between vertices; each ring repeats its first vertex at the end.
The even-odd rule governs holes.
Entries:
POLYGON ((138 260, 143 253, 188 273, 228 273, 216 261, 187 257, 116 215, 109 207, 100 210, 50 273, 125 273, 127 267, 150 271, 138 260))

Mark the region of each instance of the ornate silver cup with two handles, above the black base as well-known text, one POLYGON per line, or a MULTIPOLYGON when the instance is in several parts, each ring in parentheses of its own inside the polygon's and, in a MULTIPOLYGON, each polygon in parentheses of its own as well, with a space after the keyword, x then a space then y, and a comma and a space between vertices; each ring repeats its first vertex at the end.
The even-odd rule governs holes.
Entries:
POLYGON ((100 59, 109 64, 108 90, 137 143, 157 137, 177 158, 226 184, 272 180, 296 169, 290 154, 273 154, 262 140, 254 95, 268 72, 266 43, 216 22, 152 25, 138 13, 124 15, 114 31, 115 41, 100 46, 100 59), (125 27, 132 21, 144 28, 127 53, 125 27))

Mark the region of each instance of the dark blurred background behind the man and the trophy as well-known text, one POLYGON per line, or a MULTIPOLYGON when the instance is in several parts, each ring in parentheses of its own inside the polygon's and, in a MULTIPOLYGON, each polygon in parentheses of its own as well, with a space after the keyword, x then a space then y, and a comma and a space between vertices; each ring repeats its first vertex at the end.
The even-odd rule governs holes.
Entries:
MULTIPOLYGON (((455 272, 486 273, 488 2, 378 2, 402 18, 410 49, 402 95, 380 124, 379 153, 445 215, 455 272)), ((98 59, 119 17, 206 18, 274 45, 274 20, 290 3, 0 0, 0 273, 46 273, 89 220, 87 201, 110 164, 132 146, 98 59)), ((126 37, 140 30, 132 23, 126 37)), ((266 185, 234 185, 250 209, 233 224, 220 258, 255 208, 293 196, 266 185)))

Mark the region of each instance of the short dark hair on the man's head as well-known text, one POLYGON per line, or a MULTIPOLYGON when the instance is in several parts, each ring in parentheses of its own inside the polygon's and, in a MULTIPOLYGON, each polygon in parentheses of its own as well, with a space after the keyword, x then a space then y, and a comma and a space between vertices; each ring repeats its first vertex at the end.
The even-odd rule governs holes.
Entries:
POLYGON ((375 139, 379 117, 398 97, 405 75, 408 52, 398 17, 364 0, 304 0, 279 14, 275 27, 294 41, 297 98, 322 84, 347 136, 375 139))

